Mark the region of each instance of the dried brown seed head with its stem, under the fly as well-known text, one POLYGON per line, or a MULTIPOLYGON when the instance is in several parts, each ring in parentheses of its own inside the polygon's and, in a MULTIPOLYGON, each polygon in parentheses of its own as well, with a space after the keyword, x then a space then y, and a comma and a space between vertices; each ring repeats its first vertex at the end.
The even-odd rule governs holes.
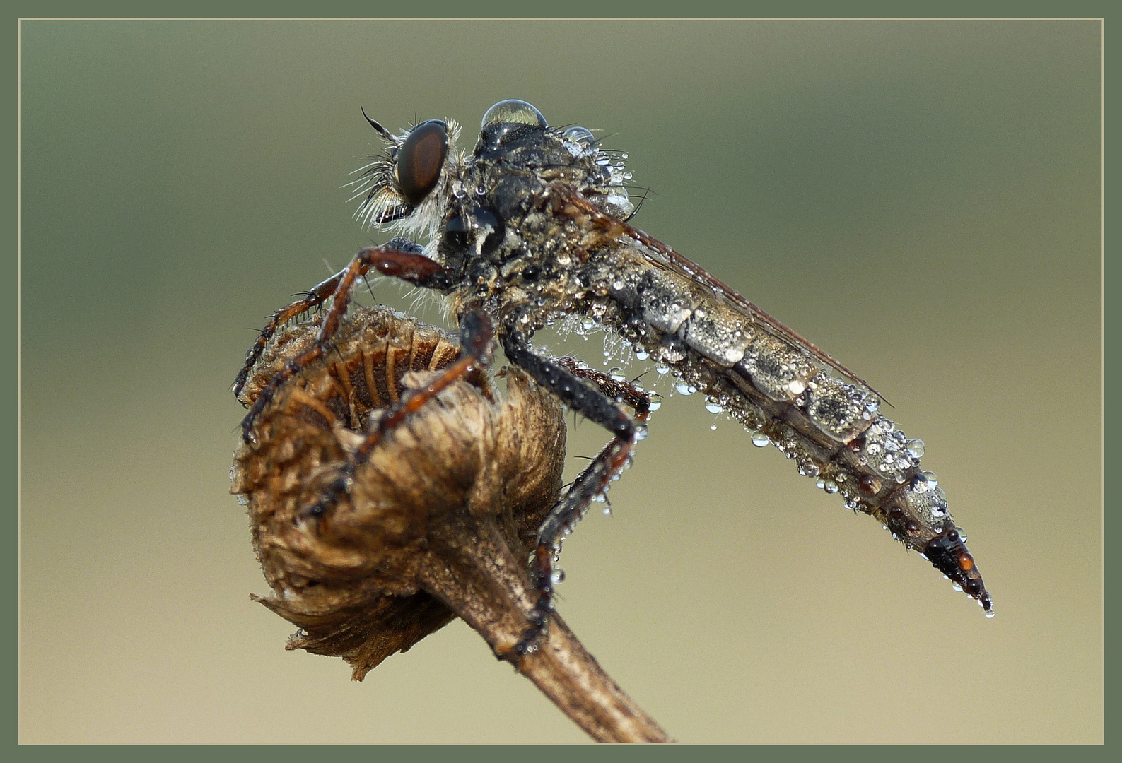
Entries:
MULTIPOLYGON (((318 328, 279 332, 241 402, 252 404, 318 328)), ((458 356, 438 328, 361 309, 343 318, 325 360, 277 389, 231 472, 273 588, 254 598, 302 629, 288 649, 342 657, 359 680, 461 616, 594 737, 668 738, 555 614, 539 651, 514 650, 536 601, 525 560, 561 495, 565 426, 553 396, 512 369, 500 392, 477 370, 355 462, 387 407, 458 356), (348 490, 324 506, 348 468, 348 490)))

